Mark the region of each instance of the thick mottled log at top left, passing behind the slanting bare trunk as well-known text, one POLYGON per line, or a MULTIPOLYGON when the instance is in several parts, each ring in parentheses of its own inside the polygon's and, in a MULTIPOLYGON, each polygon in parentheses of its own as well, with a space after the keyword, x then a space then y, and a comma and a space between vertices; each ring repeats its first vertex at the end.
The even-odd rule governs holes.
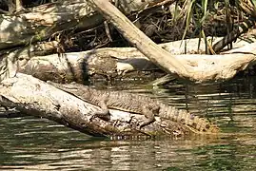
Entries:
MULTIPOLYGON (((129 14, 145 9, 148 4, 157 3, 154 0, 118 1, 117 6, 129 14)), ((104 21, 102 15, 84 0, 50 3, 31 8, 26 13, 1 14, 0 18, 0 50, 47 40, 64 30, 94 28, 104 21)))

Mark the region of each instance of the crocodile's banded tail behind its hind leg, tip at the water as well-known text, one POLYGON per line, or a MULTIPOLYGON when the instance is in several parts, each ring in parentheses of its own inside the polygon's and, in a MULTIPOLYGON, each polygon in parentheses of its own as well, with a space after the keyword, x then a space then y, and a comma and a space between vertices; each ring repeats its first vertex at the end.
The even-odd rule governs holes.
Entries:
POLYGON ((194 116, 183 109, 177 109, 167 104, 160 105, 159 116, 172 120, 177 123, 186 124, 196 133, 218 133, 219 128, 213 123, 209 123, 207 119, 194 116))

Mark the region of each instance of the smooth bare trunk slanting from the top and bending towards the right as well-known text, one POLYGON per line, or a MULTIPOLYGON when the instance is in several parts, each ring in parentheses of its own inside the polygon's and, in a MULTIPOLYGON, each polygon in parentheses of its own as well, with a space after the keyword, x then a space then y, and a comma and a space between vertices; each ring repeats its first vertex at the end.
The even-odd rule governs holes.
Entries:
MULTIPOLYGON (((209 59, 208 56, 197 57, 197 62, 193 60, 184 60, 175 58, 167 50, 157 47, 142 31, 136 28, 128 18, 117 10, 113 5, 105 0, 91 0, 98 10, 128 39, 128 41, 137 47, 148 59, 155 65, 170 74, 176 74, 193 82, 206 82, 209 80, 223 80, 233 77, 237 70, 244 69, 248 63, 254 60, 253 54, 226 55, 224 61, 219 61, 222 56, 214 56, 209 59), (232 57, 232 59, 231 59, 232 57), (235 59, 233 58, 235 57, 235 59), (216 60, 218 59, 218 61, 216 60), (226 62, 231 61, 228 65, 226 62)), ((184 56, 187 58, 187 56, 184 56)))

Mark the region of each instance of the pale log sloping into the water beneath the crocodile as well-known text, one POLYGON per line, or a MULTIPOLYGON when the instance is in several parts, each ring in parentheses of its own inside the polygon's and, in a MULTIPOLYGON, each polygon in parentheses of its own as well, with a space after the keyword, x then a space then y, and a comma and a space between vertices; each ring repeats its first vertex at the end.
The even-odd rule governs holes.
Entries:
POLYGON ((0 94, 2 97, 0 104, 15 107, 27 115, 48 118, 93 136, 175 137, 191 133, 183 124, 159 119, 139 130, 134 124, 145 119, 143 115, 117 110, 110 110, 110 122, 98 118, 89 121, 91 118, 89 113, 99 110, 97 106, 85 103, 25 74, 17 74, 14 78, 4 80, 0 85, 0 94))

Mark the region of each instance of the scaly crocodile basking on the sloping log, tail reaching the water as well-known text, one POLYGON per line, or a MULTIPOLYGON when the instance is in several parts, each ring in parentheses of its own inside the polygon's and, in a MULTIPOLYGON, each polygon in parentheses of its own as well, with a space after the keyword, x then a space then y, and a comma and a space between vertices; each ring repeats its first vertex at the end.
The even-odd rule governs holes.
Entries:
POLYGON ((190 114, 187 110, 178 109, 145 95, 123 91, 97 90, 88 85, 80 85, 77 83, 57 84, 48 81, 48 84, 66 91, 89 104, 100 106, 102 111, 93 113, 93 115, 102 119, 104 118, 105 120, 110 119, 108 109, 117 109, 129 113, 145 115, 146 120, 144 123, 140 124, 140 127, 153 123, 155 116, 159 116, 163 119, 185 124, 195 133, 207 134, 219 132, 218 126, 209 123, 207 119, 200 118, 190 114))

